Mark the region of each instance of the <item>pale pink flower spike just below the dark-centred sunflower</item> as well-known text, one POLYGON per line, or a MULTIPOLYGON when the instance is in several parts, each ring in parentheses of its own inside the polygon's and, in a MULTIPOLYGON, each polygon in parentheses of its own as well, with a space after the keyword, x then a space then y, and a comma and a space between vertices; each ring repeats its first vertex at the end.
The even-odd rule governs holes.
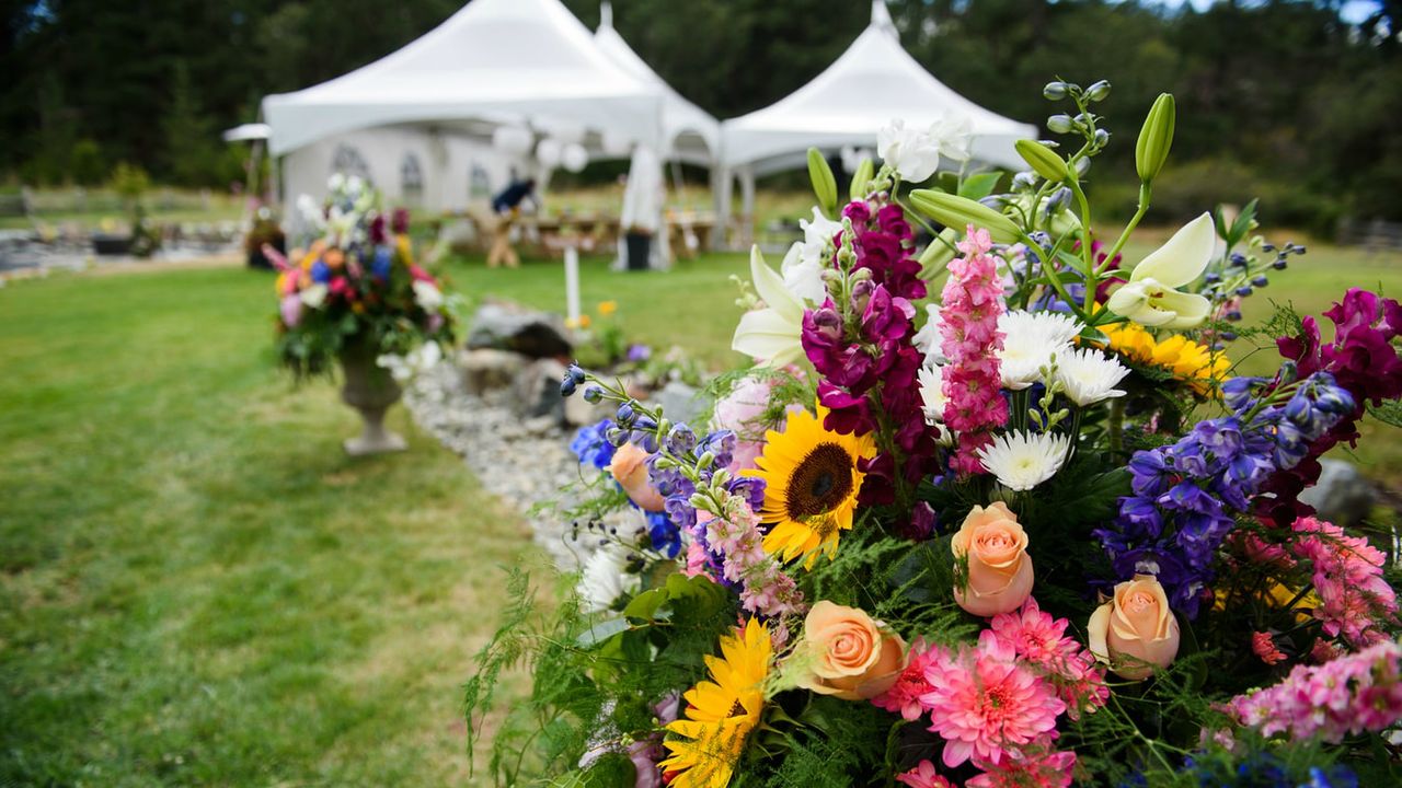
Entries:
MULTIPOLYGON (((707 544, 723 557, 722 576, 740 583, 740 604, 744 610, 761 616, 802 613, 803 592, 798 590, 794 578, 784 573, 778 561, 764 551, 760 517, 750 502, 740 495, 728 495, 722 510, 721 516, 712 515, 704 523, 707 544)), ((707 512, 697 515, 700 519, 707 512)))

